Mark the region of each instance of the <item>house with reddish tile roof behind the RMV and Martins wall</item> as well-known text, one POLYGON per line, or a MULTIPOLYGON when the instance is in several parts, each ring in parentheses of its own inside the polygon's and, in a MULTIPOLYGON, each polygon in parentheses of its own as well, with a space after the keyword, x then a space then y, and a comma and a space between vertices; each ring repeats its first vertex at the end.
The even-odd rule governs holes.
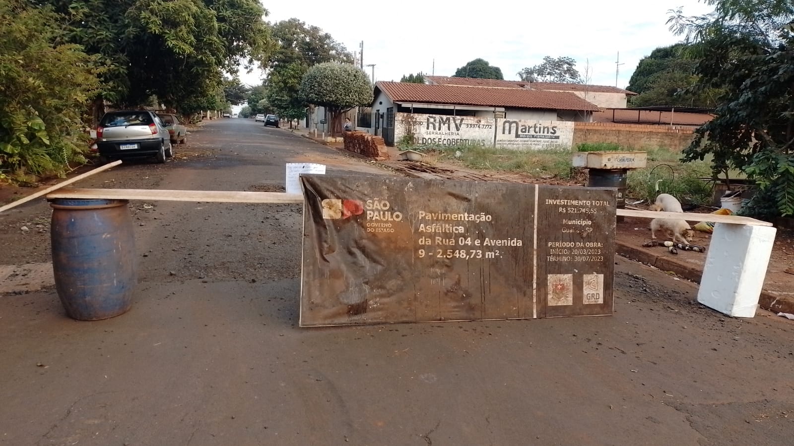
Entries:
MULTIPOLYGON (((479 118, 480 124, 467 125, 491 125, 493 129, 497 119, 516 123, 589 122, 592 121, 592 113, 601 110, 570 91, 534 90, 507 84, 480 86, 378 82, 374 93, 375 100, 367 112, 372 113, 373 117, 372 133, 384 136, 389 145, 395 144, 399 113, 479 118), (485 121, 491 124, 482 124, 485 121)), ((553 125, 545 127, 550 129, 553 125)), ((572 125, 569 127, 572 129, 572 125)), ((399 135, 396 139, 399 139, 399 135)))

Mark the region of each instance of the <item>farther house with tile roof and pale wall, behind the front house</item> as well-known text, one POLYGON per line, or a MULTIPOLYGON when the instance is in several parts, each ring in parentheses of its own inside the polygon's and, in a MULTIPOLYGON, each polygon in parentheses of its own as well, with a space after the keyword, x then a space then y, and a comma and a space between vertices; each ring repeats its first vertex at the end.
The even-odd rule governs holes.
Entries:
POLYGON ((526 90, 561 91, 576 94, 601 108, 625 108, 628 99, 637 94, 633 91, 605 85, 580 83, 523 82, 514 80, 453 78, 449 76, 425 76, 430 85, 459 85, 467 87, 522 88, 526 90))

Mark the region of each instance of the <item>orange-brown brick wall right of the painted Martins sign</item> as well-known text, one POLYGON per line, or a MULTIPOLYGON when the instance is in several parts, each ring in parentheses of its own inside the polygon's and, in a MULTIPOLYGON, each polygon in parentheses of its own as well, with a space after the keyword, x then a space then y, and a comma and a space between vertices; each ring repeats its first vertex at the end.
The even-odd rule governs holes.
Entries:
POLYGON ((616 143, 626 148, 671 148, 681 150, 692 142, 695 127, 680 125, 615 124, 576 122, 573 147, 581 143, 616 143))

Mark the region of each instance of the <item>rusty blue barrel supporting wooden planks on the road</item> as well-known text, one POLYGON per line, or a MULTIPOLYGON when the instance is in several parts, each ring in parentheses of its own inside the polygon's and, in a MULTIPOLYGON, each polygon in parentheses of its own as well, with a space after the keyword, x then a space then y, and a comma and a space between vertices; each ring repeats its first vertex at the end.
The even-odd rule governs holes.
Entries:
POLYGON ((137 282, 127 200, 57 198, 52 207, 52 272, 69 317, 98 321, 132 306, 137 282))

